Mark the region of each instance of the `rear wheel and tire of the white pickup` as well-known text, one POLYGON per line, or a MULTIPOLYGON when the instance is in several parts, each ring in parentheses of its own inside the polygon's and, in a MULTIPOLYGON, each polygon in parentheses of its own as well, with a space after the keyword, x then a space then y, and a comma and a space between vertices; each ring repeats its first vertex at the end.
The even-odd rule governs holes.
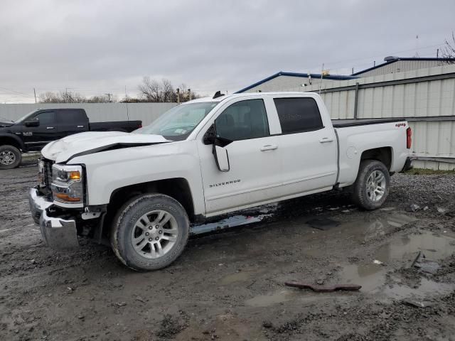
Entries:
POLYGON ((389 195, 390 174, 384 163, 376 160, 360 162, 351 198, 364 210, 376 210, 389 195))

